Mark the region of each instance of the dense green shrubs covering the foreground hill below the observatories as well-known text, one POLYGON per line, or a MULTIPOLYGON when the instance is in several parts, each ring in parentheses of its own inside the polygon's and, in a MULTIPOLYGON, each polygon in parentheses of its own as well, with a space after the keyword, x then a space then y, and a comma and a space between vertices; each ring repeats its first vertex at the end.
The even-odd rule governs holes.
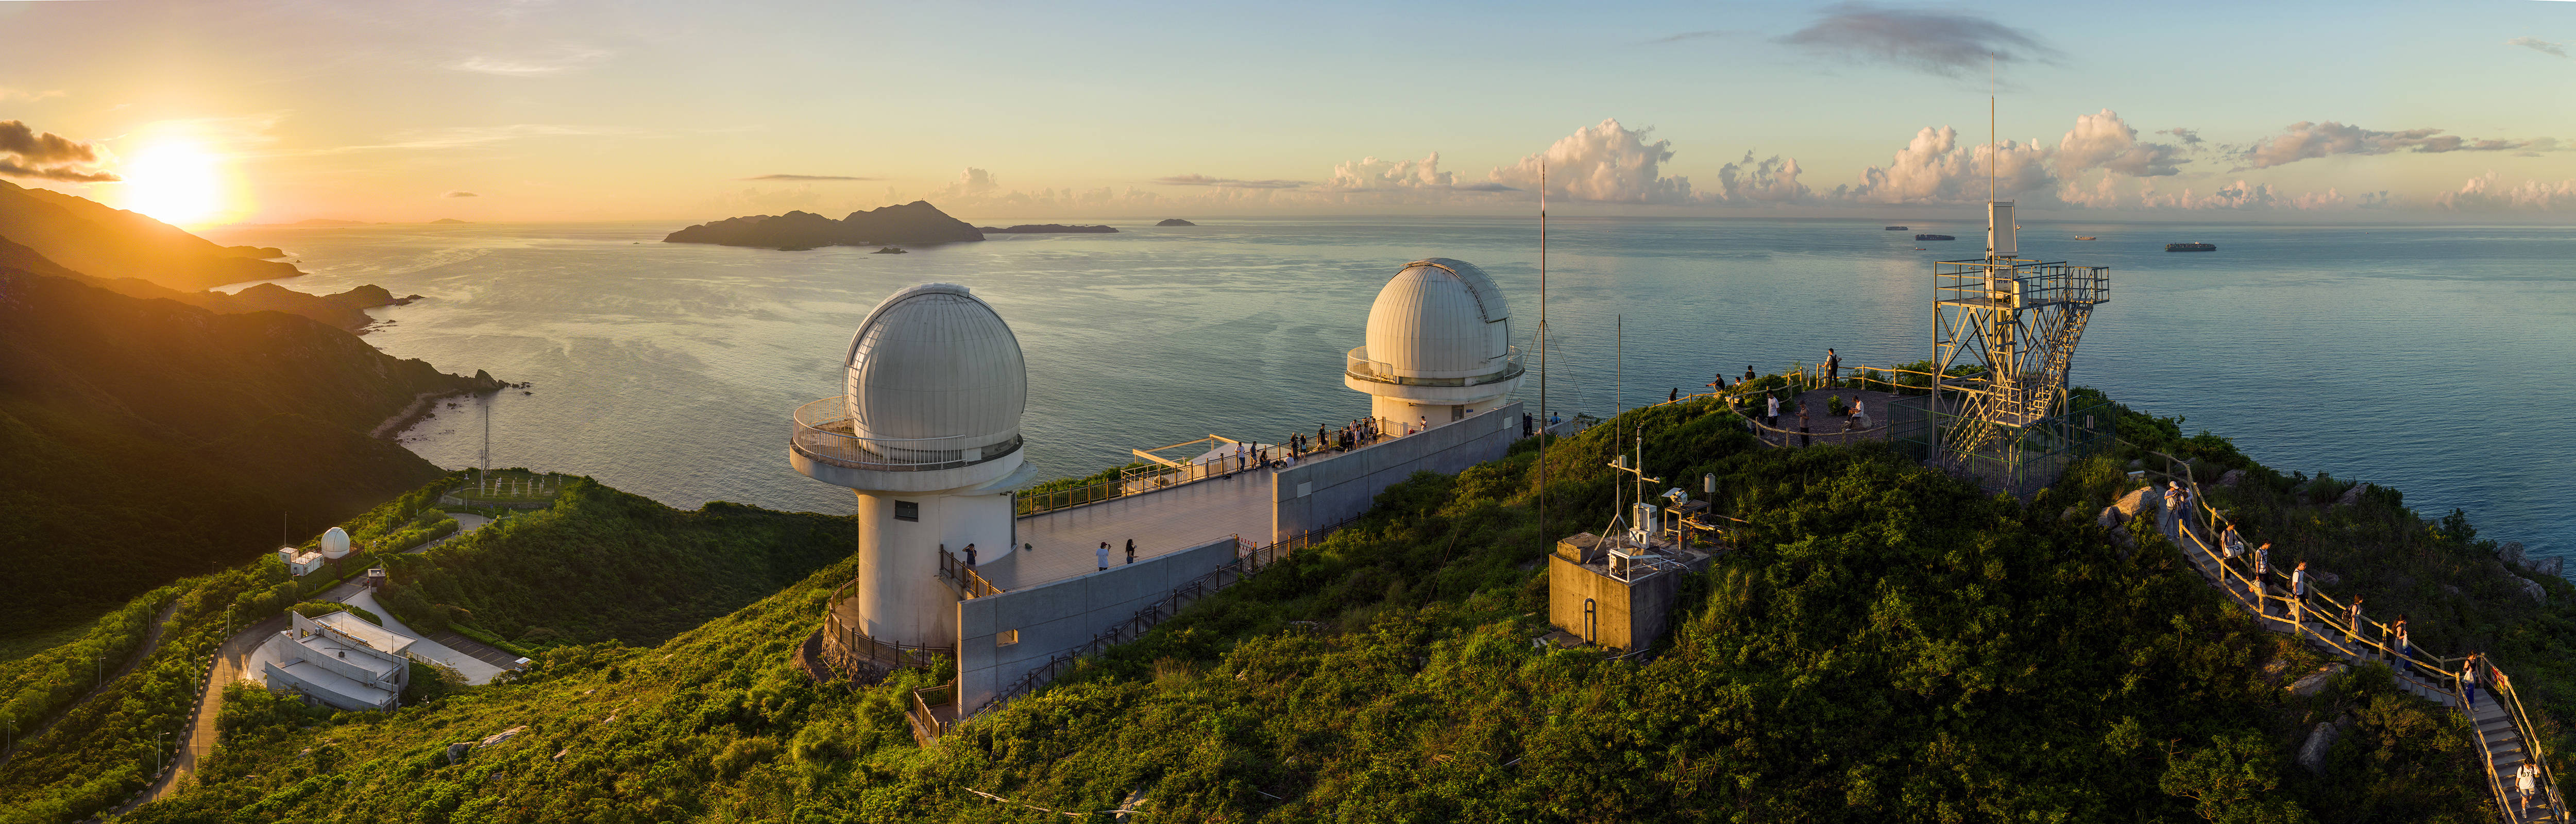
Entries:
POLYGON ((2089 512, 2125 492, 2125 456, 2017 502, 1878 448, 1765 451, 1677 404, 1551 448, 1551 533, 1607 518, 1607 433, 1636 422, 1649 471, 1718 474, 1721 510, 1754 523, 1643 664, 1530 646, 1546 536, 1525 443, 1388 489, 1360 525, 933 749, 902 718, 930 672, 842 690, 788 664, 842 561, 657 649, 559 646, 399 713, 301 729, 245 711, 193 793, 131 819, 2486 816, 2455 716, 2370 667, 2293 695, 2313 654, 2169 546, 2105 541, 2089 512), (2347 734, 2321 772, 2295 767, 2324 718, 2347 734), (448 744, 513 726, 448 765, 448 744))

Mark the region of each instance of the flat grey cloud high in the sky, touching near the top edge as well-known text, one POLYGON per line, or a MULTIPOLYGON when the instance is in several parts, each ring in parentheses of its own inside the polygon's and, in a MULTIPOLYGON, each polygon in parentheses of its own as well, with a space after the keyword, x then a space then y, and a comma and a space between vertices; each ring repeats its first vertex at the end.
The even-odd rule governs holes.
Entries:
POLYGON ((2027 31, 1968 13, 1837 3, 1780 44, 1826 57, 1873 59, 1927 75, 1960 77, 1994 62, 2053 62, 2056 49, 2027 31))

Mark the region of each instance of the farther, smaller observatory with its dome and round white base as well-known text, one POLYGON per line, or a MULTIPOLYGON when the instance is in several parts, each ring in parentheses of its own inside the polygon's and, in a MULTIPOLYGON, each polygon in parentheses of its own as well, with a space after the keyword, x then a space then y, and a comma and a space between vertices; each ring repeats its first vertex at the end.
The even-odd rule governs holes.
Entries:
POLYGON ((1406 263, 1368 306, 1368 345, 1350 350, 1342 386, 1365 391, 1388 433, 1440 427, 1520 389, 1512 306, 1473 263, 1406 263))

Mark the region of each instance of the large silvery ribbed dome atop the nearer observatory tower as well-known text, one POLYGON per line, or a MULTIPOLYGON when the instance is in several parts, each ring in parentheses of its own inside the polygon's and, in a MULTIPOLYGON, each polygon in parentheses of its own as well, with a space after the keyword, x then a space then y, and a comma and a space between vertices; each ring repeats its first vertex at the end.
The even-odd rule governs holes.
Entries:
POLYGON ((1020 337, 966 286, 922 283, 886 296, 850 335, 850 430, 912 461, 1010 453, 1028 409, 1020 337), (976 451, 976 453, 966 453, 976 451))

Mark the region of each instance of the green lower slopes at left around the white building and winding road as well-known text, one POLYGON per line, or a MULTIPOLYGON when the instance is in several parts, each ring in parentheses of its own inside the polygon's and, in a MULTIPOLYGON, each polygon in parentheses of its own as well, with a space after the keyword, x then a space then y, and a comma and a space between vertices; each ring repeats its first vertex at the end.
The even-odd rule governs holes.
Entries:
MULTIPOLYGON (((461 474, 440 476, 340 525, 358 546, 412 546, 430 536, 422 523, 443 518, 438 494, 459 482, 461 474)), ((572 479, 549 512, 495 523, 428 554, 353 556, 345 572, 402 569, 397 603, 433 592, 440 605, 425 610, 484 621, 538 649, 574 636, 623 649, 616 639, 662 644, 680 628, 773 597, 850 556, 850 541, 848 518, 721 502, 680 512, 572 479), (538 623, 546 631, 536 631, 538 623)), ((155 765, 152 736, 188 716, 204 677, 198 657, 222 639, 227 621, 240 628, 283 610, 332 610, 312 603, 330 585, 325 574, 294 579, 276 556, 263 556, 147 592, 67 644, 0 664, 0 713, 21 731, 52 724, 0 765, 0 821, 77 821, 142 788, 155 765), (108 657, 113 672, 165 605, 175 610, 162 626, 162 646, 134 675, 108 680, 100 698, 75 703, 93 685, 90 657, 108 657)), ((577 646, 572 654, 592 651, 577 646)), ((415 690, 404 700, 433 700, 443 690, 425 670, 415 664, 415 690)), ((240 695, 227 706, 227 726, 314 721, 301 706, 263 698, 263 690, 240 695)))

